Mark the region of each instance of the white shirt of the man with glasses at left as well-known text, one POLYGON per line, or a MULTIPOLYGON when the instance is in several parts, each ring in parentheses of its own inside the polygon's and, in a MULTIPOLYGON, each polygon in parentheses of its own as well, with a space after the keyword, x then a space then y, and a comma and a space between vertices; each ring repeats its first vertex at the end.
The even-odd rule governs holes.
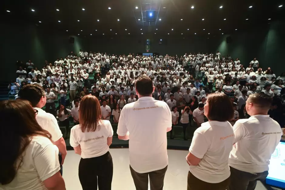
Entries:
POLYGON ((36 115, 36 120, 38 124, 46 131, 52 135, 52 141, 58 141, 62 137, 62 133, 57 124, 57 120, 52 114, 46 113, 44 110, 38 107, 34 107, 35 110, 38 110, 36 115))

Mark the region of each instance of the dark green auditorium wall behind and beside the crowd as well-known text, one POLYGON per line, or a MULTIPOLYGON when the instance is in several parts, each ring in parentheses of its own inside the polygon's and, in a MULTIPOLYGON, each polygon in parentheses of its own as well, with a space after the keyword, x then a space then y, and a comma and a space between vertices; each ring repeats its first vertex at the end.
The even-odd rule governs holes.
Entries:
POLYGON ((17 70, 16 61, 26 62, 29 59, 35 66, 41 68, 45 60, 53 63, 57 57, 68 55, 70 51, 75 53, 79 49, 87 51, 100 51, 107 53, 127 54, 146 53, 146 39, 150 39, 150 53, 171 54, 181 56, 184 53, 200 51, 210 53, 219 50, 222 55, 230 54, 233 59, 239 57, 241 63, 248 63, 257 57, 262 67, 270 66, 279 76, 285 70, 283 57, 285 52, 285 38, 283 36, 284 23, 272 22, 267 27, 240 29, 231 34, 232 42, 227 43, 226 37, 215 36, 118 36, 111 38, 104 36, 96 38, 69 36, 58 32, 46 32, 36 25, 22 23, 3 24, 2 49, 4 49, 4 62, 2 63, 2 75, 0 81, 15 79, 17 70), (69 43, 69 37, 74 37, 75 42, 69 43), (159 44, 162 39, 162 44, 159 44), (4 43, 3 43, 4 42, 4 43))

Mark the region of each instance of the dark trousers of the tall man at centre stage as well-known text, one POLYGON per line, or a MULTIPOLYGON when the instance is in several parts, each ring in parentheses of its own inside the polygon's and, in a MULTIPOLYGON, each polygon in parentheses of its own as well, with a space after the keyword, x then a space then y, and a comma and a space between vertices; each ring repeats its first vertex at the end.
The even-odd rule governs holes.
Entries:
POLYGON ((136 190, 147 190, 148 183, 150 190, 163 190, 164 176, 167 166, 163 169, 151 171, 148 173, 138 173, 130 165, 131 175, 134 180, 136 190))

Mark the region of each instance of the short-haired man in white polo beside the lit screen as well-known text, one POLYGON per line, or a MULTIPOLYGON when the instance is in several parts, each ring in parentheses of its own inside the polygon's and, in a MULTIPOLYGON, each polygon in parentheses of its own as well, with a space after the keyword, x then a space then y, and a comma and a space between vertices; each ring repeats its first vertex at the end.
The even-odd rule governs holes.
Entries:
POLYGON ((271 154, 282 136, 280 125, 267 115, 271 104, 268 95, 251 94, 246 100, 251 117, 237 120, 233 126, 229 190, 254 190, 257 180, 265 180, 268 175, 271 154))

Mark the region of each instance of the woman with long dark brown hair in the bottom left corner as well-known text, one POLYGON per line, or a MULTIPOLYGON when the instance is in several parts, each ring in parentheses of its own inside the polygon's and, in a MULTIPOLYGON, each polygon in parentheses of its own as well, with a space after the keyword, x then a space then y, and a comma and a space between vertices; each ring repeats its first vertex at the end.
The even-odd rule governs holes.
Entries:
POLYGON ((0 189, 65 190, 60 174, 59 149, 52 135, 36 120, 38 110, 27 100, 0 102, 0 121, 12 122, 0 127, 0 189), (9 142, 9 143, 7 143, 9 142))

